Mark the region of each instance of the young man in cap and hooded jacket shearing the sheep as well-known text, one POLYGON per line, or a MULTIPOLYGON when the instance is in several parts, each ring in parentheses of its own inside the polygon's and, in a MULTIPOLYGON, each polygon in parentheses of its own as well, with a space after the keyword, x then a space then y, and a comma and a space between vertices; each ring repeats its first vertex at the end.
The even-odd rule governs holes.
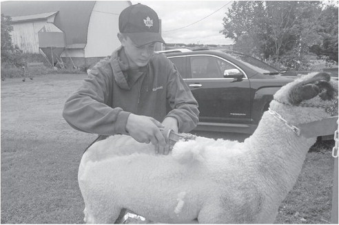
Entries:
POLYGON ((99 134, 99 140, 127 134, 167 154, 161 129, 194 129, 198 103, 173 63, 154 53, 156 42, 165 43, 154 10, 140 3, 125 8, 119 31, 121 47, 93 67, 66 101, 63 117, 74 129, 99 134), (166 103, 172 107, 168 114, 166 103))

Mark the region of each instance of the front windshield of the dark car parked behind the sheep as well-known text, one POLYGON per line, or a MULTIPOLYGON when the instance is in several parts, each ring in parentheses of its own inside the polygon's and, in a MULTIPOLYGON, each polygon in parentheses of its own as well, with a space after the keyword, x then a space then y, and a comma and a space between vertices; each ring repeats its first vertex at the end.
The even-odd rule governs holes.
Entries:
POLYGON ((260 61, 252 56, 247 56, 245 54, 241 54, 238 52, 232 52, 227 50, 221 50, 221 52, 225 52, 226 54, 229 54, 230 56, 233 56, 234 58, 237 58, 240 61, 243 61, 247 66, 249 67, 256 67, 256 70, 260 70, 263 73, 278 73, 279 70, 275 67, 272 67, 271 65, 268 65, 267 63, 264 63, 263 61, 260 61))

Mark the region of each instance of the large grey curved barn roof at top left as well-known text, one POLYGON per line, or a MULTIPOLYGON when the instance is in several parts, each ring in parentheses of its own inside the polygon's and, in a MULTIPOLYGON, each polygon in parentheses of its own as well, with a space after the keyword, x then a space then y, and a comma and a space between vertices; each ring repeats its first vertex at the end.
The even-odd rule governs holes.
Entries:
POLYGON ((57 12, 54 24, 65 32, 67 45, 85 45, 94 4, 95 1, 2 1, 1 14, 31 20, 57 12))

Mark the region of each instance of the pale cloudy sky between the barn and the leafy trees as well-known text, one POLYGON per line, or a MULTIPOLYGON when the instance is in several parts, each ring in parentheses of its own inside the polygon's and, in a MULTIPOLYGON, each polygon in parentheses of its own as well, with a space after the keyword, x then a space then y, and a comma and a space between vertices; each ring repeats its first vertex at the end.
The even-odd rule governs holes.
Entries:
POLYGON ((232 39, 225 39, 225 36, 220 33, 220 30, 223 30, 225 12, 232 5, 232 1, 131 2, 133 4, 142 3, 156 11, 161 19, 163 39, 166 43, 205 45, 230 45, 233 43, 232 39), (194 24, 190 25, 192 23, 194 24))

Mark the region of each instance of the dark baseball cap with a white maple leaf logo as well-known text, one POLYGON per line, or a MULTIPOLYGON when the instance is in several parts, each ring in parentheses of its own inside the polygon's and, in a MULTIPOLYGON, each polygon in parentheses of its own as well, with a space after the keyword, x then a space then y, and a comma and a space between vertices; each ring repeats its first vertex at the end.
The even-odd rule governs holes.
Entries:
POLYGON ((158 14, 141 3, 125 8, 119 15, 119 31, 136 45, 162 42, 158 14))

